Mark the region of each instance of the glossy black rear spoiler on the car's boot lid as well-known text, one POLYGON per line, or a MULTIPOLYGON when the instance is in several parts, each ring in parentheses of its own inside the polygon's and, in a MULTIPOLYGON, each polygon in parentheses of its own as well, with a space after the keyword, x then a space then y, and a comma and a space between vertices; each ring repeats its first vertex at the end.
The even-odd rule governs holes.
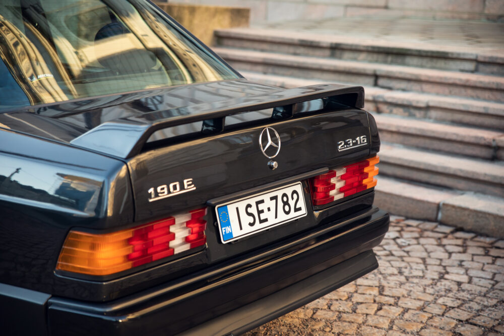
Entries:
POLYGON ((364 107, 364 88, 340 84, 310 85, 239 100, 204 103, 188 107, 154 111, 107 121, 87 131, 70 143, 122 159, 131 158, 142 151, 156 130, 203 121, 203 133, 217 133, 224 129, 226 116, 273 108, 272 119, 292 117, 300 103, 326 98, 351 107, 364 107))

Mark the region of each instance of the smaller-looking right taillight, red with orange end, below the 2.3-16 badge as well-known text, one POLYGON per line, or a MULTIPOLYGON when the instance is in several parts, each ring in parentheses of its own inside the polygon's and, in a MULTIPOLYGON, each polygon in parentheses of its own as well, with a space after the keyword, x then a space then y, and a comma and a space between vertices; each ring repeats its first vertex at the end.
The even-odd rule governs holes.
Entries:
POLYGON ((376 185, 380 158, 375 156, 310 179, 313 205, 321 206, 376 185))

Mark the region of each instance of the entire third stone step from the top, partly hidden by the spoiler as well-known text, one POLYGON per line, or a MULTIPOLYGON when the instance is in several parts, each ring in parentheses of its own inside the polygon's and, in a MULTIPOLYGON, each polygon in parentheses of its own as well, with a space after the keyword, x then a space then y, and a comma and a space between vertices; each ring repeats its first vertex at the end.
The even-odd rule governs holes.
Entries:
MULTIPOLYGON (((334 81, 310 80, 242 71, 251 81, 296 88, 334 81)), ((454 98, 418 92, 394 91, 365 86, 365 109, 372 112, 412 116, 504 130, 504 104, 468 98, 454 98)), ((504 147, 504 139, 500 148, 504 147)), ((501 153, 504 160, 504 153, 501 153)))

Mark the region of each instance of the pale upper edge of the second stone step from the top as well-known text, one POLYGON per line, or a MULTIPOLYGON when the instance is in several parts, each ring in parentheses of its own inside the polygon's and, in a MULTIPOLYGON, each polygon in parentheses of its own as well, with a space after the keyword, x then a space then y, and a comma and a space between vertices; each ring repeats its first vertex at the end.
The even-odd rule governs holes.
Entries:
POLYGON ((504 90, 504 77, 492 75, 415 68, 405 65, 364 63, 352 60, 243 49, 215 47, 213 50, 226 61, 235 60, 267 65, 291 66, 292 68, 299 69, 336 71, 347 74, 374 76, 375 78, 385 77, 418 82, 450 84, 469 88, 476 87, 491 90, 504 90))

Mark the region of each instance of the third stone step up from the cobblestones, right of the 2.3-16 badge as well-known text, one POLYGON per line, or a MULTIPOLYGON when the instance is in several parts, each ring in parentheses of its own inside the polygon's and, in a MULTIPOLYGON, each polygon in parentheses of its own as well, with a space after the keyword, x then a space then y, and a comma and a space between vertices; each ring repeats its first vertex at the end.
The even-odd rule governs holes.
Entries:
MULTIPOLYGON (((374 114, 382 142, 492 160, 497 157, 496 139, 503 132, 481 128, 374 114)), ((499 154, 501 154, 499 152, 499 154)))

